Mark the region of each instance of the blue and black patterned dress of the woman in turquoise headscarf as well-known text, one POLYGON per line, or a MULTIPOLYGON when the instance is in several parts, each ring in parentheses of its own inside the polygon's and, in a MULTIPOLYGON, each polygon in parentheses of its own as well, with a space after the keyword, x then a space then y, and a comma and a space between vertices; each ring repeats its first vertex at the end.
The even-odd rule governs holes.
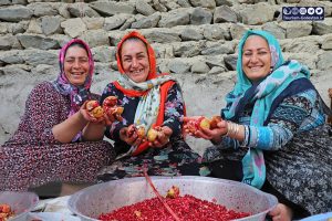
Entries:
MULTIPOLYGON (((264 150, 267 180, 262 190, 293 208, 297 218, 331 211, 332 128, 324 124, 322 99, 317 91, 284 98, 267 126, 249 126, 251 112, 252 106, 248 105, 239 119, 249 127, 248 143, 251 147, 271 147, 264 150)), ((206 149, 203 161, 214 177, 241 181, 241 159, 246 152, 239 141, 224 137, 220 145, 206 149)))

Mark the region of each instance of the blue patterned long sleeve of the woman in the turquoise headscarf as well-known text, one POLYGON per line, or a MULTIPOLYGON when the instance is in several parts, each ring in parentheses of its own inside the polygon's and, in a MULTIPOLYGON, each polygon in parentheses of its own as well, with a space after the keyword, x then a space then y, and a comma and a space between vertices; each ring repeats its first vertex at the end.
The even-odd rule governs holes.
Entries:
POLYGON ((315 91, 287 97, 273 112, 267 126, 248 126, 248 147, 277 150, 293 136, 324 124, 320 99, 315 91))

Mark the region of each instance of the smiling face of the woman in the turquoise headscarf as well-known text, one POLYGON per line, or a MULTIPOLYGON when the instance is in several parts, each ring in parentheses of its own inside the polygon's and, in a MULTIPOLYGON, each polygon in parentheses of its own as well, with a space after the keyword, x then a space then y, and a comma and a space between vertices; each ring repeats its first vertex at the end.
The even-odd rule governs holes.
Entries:
POLYGON ((242 70, 251 82, 260 81, 270 74, 271 53, 263 38, 248 36, 242 51, 242 70))

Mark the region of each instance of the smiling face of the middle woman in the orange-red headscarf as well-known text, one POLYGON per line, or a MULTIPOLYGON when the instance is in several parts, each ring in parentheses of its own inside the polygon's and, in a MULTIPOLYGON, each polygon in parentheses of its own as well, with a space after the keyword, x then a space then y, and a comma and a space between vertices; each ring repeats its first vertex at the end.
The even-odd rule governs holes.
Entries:
POLYGON ((139 39, 128 39, 121 48, 121 63, 125 74, 136 83, 145 82, 149 72, 146 45, 139 39))

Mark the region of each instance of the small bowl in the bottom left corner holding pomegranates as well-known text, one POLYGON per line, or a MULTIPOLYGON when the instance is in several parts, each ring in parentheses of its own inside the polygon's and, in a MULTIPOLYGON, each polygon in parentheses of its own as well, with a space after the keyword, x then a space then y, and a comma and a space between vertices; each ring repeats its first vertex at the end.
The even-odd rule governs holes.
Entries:
POLYGON ((0 192, 0 203, 9 204, 14 217, 8 221, 25 221, 28 213, 38 204, 39 197, 33 192, 0 192))

